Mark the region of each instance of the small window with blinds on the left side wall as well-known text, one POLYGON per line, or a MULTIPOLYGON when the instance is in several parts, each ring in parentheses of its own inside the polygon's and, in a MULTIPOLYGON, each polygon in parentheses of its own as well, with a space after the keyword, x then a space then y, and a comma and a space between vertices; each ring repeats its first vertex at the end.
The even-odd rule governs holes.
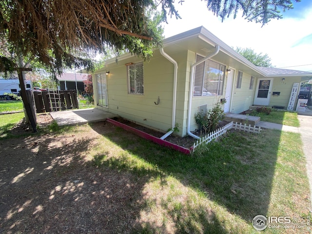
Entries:
POLYGON ((144 94, 144 66, 143 62, 128 65, 128 93, 144 94))

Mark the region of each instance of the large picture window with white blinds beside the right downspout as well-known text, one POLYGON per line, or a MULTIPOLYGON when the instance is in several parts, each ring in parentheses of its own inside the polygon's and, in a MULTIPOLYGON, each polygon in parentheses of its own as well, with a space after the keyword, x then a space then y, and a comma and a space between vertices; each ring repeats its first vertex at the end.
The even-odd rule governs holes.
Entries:
MULTIPOLYGON (((203 59, 197 55, 196 61, 203 59)), ((225 65, 213 60, 206 60, 195 68, 193 96, 222 95, 225 65)))

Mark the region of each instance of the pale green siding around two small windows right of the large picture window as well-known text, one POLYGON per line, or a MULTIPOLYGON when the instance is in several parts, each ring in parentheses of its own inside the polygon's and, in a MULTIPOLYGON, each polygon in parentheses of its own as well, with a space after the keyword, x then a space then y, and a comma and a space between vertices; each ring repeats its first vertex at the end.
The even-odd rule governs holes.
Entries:
POLYGON ((249 109, 251 105, 254 103, 254 90, 256 86, 256 78, 254 79, 254 88, 252 90, 249 89, 250 78, 249 74, 243 73, 241 88, 236 88, 237 83, 237 75, 238 71, 235 71, 234 74, 234 88, 232 94, 232 105, 231 105, 231 113, 239 114, 243 111, 249 109))

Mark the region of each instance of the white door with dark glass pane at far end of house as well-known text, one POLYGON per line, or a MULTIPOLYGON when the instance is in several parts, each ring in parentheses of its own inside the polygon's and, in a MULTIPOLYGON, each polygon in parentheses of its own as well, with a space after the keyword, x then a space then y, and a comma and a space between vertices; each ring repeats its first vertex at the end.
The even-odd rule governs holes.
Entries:
POLYGON ((254 95, 254 105, 269 105, 272 85, 273 78, 258 79, 254 95))

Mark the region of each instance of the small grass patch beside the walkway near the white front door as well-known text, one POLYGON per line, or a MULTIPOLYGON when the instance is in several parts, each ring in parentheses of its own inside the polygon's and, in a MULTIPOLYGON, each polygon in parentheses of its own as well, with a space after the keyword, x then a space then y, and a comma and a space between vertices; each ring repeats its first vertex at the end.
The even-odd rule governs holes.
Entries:
POLYGON ((272 109, 269 115, 264 113, 257 113, 256 111, 253 111, 250 115, 260 117, 261 121, 299 127, 299 120, 297 118, 296 112, 277 111, 272 109))

